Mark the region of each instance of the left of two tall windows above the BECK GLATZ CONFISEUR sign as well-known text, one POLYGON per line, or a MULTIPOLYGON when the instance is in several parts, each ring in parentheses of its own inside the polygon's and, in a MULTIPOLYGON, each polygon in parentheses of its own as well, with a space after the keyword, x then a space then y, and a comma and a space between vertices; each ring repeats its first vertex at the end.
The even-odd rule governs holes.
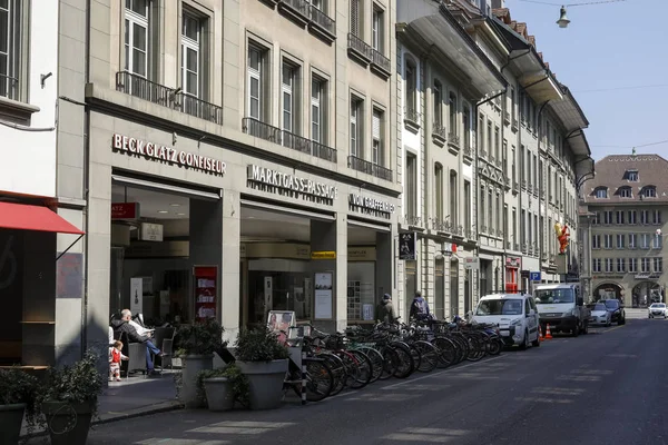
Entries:
POLYGON ((149 1, 126 0, 125 70, 144 78, 148 78, 149 13, 149 1))

